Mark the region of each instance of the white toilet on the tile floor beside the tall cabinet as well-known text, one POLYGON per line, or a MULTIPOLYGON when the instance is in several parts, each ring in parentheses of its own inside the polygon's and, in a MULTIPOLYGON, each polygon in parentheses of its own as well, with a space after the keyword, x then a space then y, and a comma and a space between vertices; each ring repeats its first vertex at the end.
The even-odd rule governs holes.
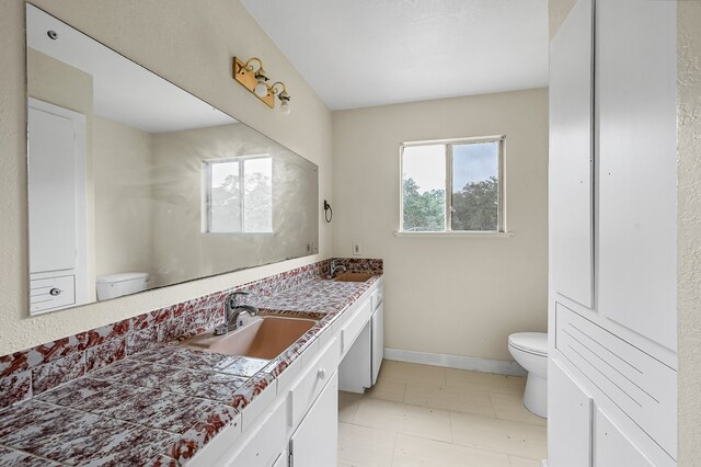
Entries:
POLYGON ((538 417, 548 418, 548 334, 517 332, 508 337, 508 351, 528 372, 524 406, 538 417))

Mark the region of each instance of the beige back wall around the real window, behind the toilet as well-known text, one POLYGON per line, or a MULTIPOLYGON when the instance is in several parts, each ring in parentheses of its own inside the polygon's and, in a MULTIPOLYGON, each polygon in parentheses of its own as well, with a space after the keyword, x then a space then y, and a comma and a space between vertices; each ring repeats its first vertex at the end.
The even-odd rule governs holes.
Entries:
POLYGON ((333 243, 383 258, 386 346, 513 360, 507 337, 545 331, 548 91, 334 112, 333 243), (398 238, 402 141, 506 134, 509 238, 398 238))

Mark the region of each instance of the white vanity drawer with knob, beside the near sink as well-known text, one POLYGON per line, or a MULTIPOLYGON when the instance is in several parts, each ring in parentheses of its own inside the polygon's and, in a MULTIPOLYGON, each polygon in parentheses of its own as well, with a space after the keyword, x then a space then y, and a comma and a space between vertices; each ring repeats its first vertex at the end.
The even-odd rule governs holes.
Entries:
POLYGON ((319 358, 304 368, 299 381, 289 390, 288 426, 295 426, 300 422, 337 366, 338 340, 333 339, 322 349, 319 358))

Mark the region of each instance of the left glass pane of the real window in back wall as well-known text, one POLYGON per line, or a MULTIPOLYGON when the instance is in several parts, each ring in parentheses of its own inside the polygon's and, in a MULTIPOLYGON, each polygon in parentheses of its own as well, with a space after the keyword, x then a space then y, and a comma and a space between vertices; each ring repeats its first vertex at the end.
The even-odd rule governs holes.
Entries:
POLYGON ((402 230, 445 230, 445 145, 404 147, 402 169, 402 230))

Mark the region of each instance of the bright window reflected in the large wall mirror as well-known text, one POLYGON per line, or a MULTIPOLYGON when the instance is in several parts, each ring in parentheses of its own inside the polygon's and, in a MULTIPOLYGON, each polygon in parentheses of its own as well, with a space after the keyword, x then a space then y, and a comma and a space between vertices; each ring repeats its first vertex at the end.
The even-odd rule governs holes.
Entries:
POLYGON ((273 232, 271 157, 218 159, 203 168, 207 232, 273 232))

